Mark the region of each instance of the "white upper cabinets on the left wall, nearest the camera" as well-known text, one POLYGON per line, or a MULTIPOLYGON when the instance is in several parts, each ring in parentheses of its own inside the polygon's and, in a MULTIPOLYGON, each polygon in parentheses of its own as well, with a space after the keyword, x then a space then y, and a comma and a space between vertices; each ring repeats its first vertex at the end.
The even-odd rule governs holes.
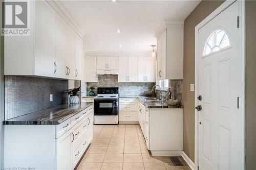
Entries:
POLYGON ((30 36, 5 37, 5 75, 81 80, 81 35, 54 2, 30 3, 30 36))

